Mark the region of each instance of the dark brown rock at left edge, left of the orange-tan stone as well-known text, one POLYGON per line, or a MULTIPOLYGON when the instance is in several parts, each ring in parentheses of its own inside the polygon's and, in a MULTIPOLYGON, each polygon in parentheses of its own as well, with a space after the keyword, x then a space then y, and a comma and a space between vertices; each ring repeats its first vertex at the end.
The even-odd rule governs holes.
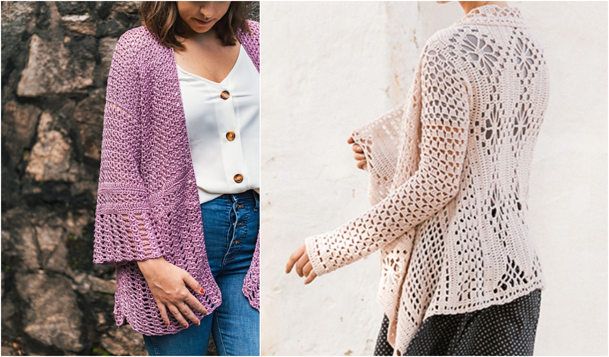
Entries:
POLYGON ((30 104, 20 105, 15 102, 7 102, 4 105, 2 113, 3 148, 9 151, 12 167, 24 158, 24 150, 32 147, 40 113, 40 109, 30 104))

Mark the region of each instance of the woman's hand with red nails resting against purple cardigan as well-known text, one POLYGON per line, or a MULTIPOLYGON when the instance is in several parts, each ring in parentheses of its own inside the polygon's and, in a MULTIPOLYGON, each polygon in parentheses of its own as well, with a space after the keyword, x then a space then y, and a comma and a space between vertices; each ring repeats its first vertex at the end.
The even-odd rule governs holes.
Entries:
POLYGON ((194 280, 184 269, 167 262, 164 257, 143 260, 138 262, 138 266, 148 282, 165 325, 169 326, 167 310, 184 327, 188 327, 185 317, 195 325, 199 325, 199 319, 191 308, 205 315, 207 310, 186 288, 188 285, 197 293, 203 294, 203 288, 197 283, 197 280, 194 280))

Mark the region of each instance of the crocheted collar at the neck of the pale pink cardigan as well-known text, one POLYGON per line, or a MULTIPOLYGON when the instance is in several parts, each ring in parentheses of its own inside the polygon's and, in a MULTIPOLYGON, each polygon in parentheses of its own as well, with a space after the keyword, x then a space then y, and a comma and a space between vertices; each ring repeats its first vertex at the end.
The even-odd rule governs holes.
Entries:
POLYGON ((515 7, 501 7, 495 4, 476 7, 476 9, 471 10, 454 24, 529 27, 527 23, 524 22, 519 9, 516 9, 515 7))

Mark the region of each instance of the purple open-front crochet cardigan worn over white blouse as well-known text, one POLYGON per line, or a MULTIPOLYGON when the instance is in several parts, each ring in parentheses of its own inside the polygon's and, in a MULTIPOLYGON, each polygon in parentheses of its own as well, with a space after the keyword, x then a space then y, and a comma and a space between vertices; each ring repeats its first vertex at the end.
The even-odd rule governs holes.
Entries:
MULTIPOLYGON (((259 24, 239 31, 259 69, 259 24)), ((174 51, 144 26, 114 49, 104 111, 93 262, 116 266, 114 317, 147 335, 177 333, 161 319, 136 261, 164 256, 205 289, 194 294, 209 312, 222 302, 209 269, 197 185, 174 51)), ((243 293, 259 310, 259 236, 243 293)), ((193 293, 191 291, 191 293, 193 293)), ((202 316, 197 313, 197 316, 202 316)))

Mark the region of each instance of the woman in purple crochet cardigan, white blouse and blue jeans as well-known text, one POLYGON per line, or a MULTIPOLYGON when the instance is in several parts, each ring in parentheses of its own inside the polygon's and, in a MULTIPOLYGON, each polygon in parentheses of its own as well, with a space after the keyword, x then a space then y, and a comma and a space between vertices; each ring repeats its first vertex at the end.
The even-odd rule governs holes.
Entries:
POLYGON ((259 24, 141 2, 108 75, 94 262, 149 355, 259 354, 259 24), (203 238, 205 232, 205 238, 203 238))

